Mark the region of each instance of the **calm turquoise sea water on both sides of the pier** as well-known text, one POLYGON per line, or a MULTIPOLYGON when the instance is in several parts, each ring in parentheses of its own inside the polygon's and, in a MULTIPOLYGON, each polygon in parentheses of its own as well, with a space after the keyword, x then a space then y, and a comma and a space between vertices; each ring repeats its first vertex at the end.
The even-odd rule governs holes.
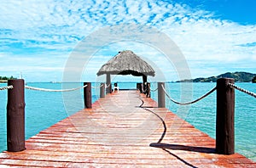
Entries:
MULTIPOLYGON (((0 87, 5 87, 6 85, 6 83, 0 83, 0 87)), ((93 83, 92 87, 97 87, 98 85, 99 84, 93 83)), ((189 94, 189 90, 186 91, 186 85, 192 85, 193 92, 190 92, 190 94, 193 96, 192 99, 195 99, 215 87, 216 83, 187 83, 183 85, 185 98, 186 93, 189 94)), ((236 85, 256 92, 256 84, 236 83, 236 85)), ((27 86, 61 89, 61 83, 27 83, 27 86)), ((119 87, 125 89, 136 88, 136 83, 119 83, 119 87)), ((152 88, 156 88, 156 84, 153 83, 152 88)), ((180 98, 180 83, 166 83, 166 90, 172 98, 184 102, 184 100, 180 98)), ((26 138, 32 137, 49 126, 54 125, 57 121, 65 119, 68 115, 79 111, 79 109, 83 109, 81 101, 76 100, 76 98, 81 99, 83 97, 82 92, 79 91, 79 93, 76 92, 78 95, 73 97, 70 101, 71 104, 67 105, 63 103, 61 92, 39 92, 26 89, 26 138), (71 111, 70 107, 67 107, 69 105, 72 106, 71 111), (67 110, 69 110, 68 113, 66 112, 67 110)), ((93 102, 98 98, 98 94, 98 89, 92 89, 93 102)), ((157 100, 157 92, 152 92, 152 98, 157 100)), ((7 91, 0 91, 0 151, 6 150, 6 104, 7 91)), ((206 132, 209 136, 215 138, 216 92, 213 92, 200 102, 186 107, 173 104, 166 98, 166 106, 202 132, 206 132)), ((256 161, 255 120, 256 98, 236 90, 236 152, 254 161, 256 161)))

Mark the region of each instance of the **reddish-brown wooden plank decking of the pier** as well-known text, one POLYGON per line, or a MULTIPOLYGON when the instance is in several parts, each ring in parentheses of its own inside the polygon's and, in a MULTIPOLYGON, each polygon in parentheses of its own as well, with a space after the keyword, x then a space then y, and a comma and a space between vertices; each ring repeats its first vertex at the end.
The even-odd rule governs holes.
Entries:
POLYGON ((0 154, 2 166, 256 167, 241 154, 215 153, 215 140, 137 91, 100 98, 0 154))

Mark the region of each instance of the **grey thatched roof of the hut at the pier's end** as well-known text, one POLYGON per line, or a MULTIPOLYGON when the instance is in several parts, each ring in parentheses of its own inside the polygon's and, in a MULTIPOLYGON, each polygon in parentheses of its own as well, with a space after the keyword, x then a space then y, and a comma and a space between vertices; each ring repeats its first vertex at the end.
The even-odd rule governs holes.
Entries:
POLYGON ((116 54, 108 63, 103 64, 97 76, 103 74, 154 76, 153 68, 130 50, 116 54))

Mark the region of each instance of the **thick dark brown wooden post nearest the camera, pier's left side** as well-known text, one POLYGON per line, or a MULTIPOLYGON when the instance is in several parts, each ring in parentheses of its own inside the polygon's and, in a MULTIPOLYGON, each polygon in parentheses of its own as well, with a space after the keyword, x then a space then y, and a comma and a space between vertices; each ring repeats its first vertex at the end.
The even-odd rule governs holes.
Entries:
POLYGON ((7 150, 19 152, 25 150, 25 99, 24 80, 9 80, 7 102, 7 150))

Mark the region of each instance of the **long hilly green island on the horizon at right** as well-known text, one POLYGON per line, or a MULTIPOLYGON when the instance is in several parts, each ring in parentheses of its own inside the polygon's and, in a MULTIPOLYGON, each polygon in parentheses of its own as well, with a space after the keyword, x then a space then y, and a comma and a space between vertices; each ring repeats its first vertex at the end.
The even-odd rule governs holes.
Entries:
POLYGON ((216 82, 218 78, 234 78, 235 82, 255 82, 256 83, 256 74, 248 73, 248 72, 227 72, 221 74, 219 76, 211 76, 211 77, 199 77, 195 79, 182 80, 177 82, 216 82))

